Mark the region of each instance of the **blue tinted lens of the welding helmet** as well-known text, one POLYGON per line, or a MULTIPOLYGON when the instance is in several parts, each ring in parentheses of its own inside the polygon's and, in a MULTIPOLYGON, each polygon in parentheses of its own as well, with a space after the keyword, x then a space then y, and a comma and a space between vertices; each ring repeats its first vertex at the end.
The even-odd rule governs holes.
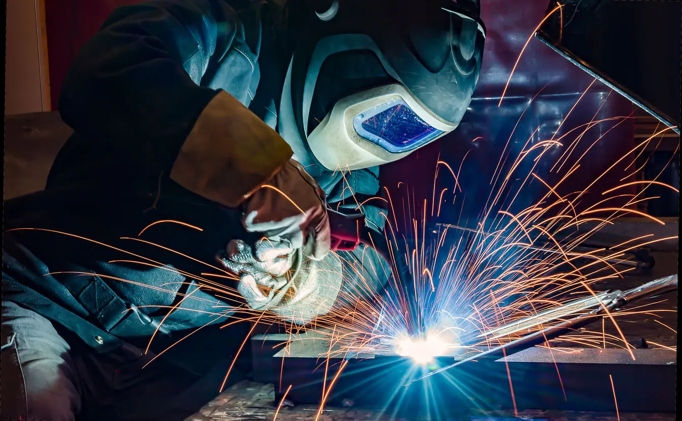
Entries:
POLYGON ((404 152, 443 134, 420 119, 402 99, 381 104, 353 117, 357 134, 389 152, 404 152))

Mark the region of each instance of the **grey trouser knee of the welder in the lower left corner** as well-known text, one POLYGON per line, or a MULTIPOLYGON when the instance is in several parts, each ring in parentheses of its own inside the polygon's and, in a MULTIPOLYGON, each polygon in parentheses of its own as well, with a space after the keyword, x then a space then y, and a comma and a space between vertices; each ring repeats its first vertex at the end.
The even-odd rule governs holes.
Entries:
POLYGON ((74 421, 81 400, 70 345, 52 323, 2 302, 1 420, 74 421))

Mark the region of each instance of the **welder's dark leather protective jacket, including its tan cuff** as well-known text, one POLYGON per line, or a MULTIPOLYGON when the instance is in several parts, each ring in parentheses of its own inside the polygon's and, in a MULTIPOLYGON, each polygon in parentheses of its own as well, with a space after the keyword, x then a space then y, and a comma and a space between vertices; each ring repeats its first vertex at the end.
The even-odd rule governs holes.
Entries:
MULTIPOLYGON (((145 346, 163 320, 160 352, 243 314, 214 255, 248 238, 238 204, 292 156, 276 134, 288 65, 276 13, 248 0, 113 12, 63 82, 59 108, 74 135, 45 191, 5 202, 3 300, 98 352, 145 346), (199 290, 198 278, 216 288, 199 290)), ((379 190, 376 168, 345 177, 307 169, 335 207, 355 209, 379 190)), ((363 210, 383 226, 376 208, 363 210)), ((366 261, 361 254, 344 260, 366 261)), ((222 332, 226 351, 240 345, 222 332)))

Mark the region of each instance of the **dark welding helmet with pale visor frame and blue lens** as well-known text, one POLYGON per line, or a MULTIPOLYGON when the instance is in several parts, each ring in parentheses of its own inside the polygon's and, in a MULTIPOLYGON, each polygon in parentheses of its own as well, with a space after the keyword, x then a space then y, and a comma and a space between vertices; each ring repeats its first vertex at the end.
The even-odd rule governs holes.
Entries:
POLYGON ((478 0, 301 0, 284 95, 327 170, 396 161, 456 129, 478 80, 478 0))

